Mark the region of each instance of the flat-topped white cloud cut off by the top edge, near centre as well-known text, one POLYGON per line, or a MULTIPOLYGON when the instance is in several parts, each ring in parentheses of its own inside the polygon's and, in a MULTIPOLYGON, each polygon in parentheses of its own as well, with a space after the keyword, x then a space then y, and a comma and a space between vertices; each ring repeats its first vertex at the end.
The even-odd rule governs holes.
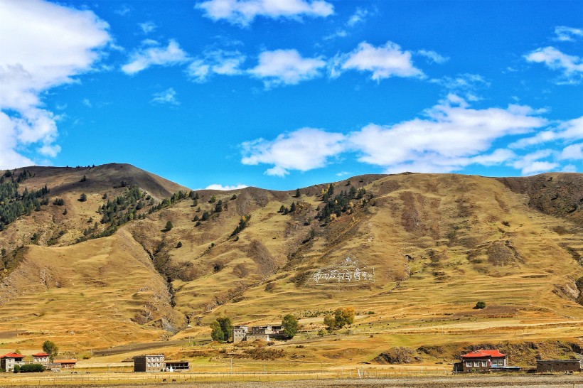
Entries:
POLYGON ((207 0, 196 4, 205 16, 218 21, 248 26, 256 16, 267 18, 326 17, 334 13, 323 0, 207 0))

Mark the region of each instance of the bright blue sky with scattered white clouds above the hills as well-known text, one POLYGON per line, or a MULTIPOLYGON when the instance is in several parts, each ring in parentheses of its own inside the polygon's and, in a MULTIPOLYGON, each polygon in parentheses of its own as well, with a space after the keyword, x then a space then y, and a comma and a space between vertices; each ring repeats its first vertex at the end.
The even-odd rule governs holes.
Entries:
POLYGON ((583 171, 582 1, 0 0, 0 168, 583 171))

